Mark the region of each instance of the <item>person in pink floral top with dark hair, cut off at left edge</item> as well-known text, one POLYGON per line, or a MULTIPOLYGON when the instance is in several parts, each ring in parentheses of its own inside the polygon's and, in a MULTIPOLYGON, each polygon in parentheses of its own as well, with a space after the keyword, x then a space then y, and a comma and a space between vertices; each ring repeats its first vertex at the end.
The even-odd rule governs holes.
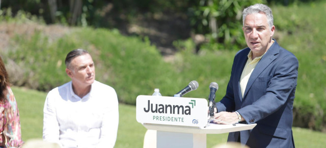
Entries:
POLYGON ((0 147, 21 147, 19 111, 5 64, 0 57, 0 147))

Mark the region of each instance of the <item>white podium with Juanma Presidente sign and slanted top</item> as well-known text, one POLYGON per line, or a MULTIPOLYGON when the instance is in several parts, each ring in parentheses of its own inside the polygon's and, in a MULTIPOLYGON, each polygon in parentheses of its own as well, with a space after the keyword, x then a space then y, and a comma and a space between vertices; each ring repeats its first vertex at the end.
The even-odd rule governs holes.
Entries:
POLYGON ((136 119, 156 130, 156 147, 206 147, 206 134, 253 129, 256 124, 207 125, 208 103, 204 98, 139 95, 136 119))

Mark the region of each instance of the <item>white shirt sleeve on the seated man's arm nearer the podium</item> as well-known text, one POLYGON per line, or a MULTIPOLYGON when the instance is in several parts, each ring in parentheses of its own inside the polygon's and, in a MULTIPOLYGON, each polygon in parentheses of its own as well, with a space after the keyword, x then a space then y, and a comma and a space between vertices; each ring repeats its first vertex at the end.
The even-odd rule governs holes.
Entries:
POLYGON ((108 97, 108 106, 104 111, 101 127, 101 137, 99 139, 99 147, 114 147, 117 140, 117 132, 119 125, 119 107, 118 97, 114 89, 112 95, 108 97))

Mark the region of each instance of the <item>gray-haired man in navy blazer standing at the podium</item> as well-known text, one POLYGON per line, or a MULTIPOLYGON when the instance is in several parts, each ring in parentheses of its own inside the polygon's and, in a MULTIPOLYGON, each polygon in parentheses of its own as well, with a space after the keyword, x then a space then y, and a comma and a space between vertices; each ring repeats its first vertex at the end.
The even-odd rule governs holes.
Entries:
POLYGON ((294 147, 292 108, 298 61, 272 37, 273 14, 266 5, 243 10, 248 47, 234 57, 226 95, 216 103, 214 122, 257 124, 229 133, 228 141, 250 147, 294 147))

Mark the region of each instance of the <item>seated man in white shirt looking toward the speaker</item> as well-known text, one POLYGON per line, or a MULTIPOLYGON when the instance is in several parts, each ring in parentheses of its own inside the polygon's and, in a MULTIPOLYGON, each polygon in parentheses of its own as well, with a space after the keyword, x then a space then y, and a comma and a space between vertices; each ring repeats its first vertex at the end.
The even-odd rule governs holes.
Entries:
POLYGON ((95 81, 87 51, 71 51, 65 64, 71 81, 46 96, 43 139, 62 147, 114 147, 119 124, 116 91, 95 81))

